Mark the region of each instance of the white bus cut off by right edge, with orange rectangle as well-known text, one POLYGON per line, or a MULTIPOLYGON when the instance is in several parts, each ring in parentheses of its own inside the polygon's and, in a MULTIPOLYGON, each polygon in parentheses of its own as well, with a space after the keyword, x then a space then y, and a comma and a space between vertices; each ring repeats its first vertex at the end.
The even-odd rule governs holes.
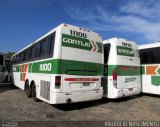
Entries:
POLYGON ((142 93, 160 95, 160 42, 139 46, 142 93))

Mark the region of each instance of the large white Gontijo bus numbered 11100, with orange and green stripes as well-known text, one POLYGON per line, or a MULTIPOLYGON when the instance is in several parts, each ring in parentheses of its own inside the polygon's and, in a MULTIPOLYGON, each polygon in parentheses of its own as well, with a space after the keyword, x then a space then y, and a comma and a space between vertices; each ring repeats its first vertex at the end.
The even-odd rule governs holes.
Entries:
POLYGON ((101 99, 102 51, 99 34, 61 24, 12 56, 14 84, 49 104, 101 99))

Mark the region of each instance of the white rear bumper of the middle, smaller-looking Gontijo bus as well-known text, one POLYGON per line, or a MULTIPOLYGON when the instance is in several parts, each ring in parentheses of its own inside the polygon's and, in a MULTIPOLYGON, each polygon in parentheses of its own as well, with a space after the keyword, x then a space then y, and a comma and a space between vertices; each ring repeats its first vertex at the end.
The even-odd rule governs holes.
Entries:
POLYGON ((108 98, 111 98, 111 99, 123 98, 123 97, 138 95, 140 94, 140 92, 141 92, 140 88, 133 88, 132 91, 130 91, 128 88, 114 89, 112 94, 108 96, 108 98))

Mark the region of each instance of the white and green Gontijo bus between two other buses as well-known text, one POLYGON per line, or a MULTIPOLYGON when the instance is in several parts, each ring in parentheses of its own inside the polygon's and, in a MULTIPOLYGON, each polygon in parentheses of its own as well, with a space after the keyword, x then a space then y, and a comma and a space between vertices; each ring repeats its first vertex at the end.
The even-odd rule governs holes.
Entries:
POLYGON ((141 91, 138 45, 122 38, 103 41, 103 97, 122 98, 141 91))

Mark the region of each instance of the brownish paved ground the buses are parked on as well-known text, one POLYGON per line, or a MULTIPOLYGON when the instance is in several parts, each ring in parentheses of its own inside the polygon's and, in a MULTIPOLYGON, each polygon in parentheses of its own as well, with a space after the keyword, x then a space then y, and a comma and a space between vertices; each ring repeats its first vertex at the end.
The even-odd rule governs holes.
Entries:
POLYGON ((0 120, 13 121, 109 121, 160 120, 160 96, 142 95, 119 100, 49 105, 34 102, 25 92, 0 84, 0 120))

